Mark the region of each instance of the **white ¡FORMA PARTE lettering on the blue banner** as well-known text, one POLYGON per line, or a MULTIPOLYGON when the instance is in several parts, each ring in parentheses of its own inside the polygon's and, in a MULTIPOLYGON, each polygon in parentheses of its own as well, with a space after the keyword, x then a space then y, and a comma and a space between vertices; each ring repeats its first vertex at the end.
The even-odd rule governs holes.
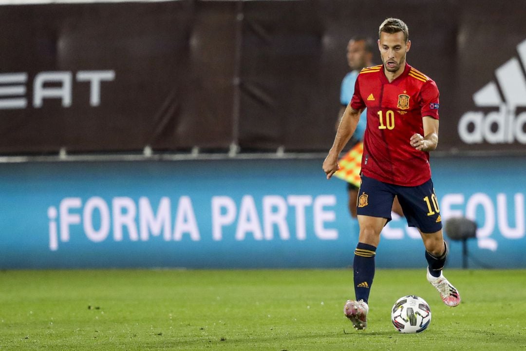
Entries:
MULTIPOLYGON (((215 241, 223 239, 223 230, 235 228, 233 238, 246 240, 247 235, 255 240, 290 239, 289 222, 294 212, 296 239, 307 238, 307 208, 311 207, 313 234, 320 240, 338 239, 336 228, 326 228, 327 223, 335 222, 336 196, 320 195, 266 195, 256 204, 253 196, 242 196, 239 210, 229 196, 211 198, 211 236, 215 241), (262 208, 258 212, 258 206, 262 208), (289 210, 292 209, 292 211, 289 210)), ((172 212, 170 198, 162 197, 157 209, 151 206, 147 197, 140 197, 138 204, 130 197, 114 197, 111 206, 102 197, 94 196, 83 205, 79 197, 66 197, 60 201, 59 210, 55 206, 47 209, 49 218, 49 249, 57 250, 59 242, 68 242, 73 226, 82 225, 84 235, 94 243, 104 242, 113 232, 113 240, 122 242, 128 239, 146 242, 151 236, 162 234, 165 241, 183 240, 185 234, 193 241, 201 240, 194 206, 189 196, 181 196, 175 209, 172 232, 172 212)), ((292 225, 292 224, 291 224, 292 225)))

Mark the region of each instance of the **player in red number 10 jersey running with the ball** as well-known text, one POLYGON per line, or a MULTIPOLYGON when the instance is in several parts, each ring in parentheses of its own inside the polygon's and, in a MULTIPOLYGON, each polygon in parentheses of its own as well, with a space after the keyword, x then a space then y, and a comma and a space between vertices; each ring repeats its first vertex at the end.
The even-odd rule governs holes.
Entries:
POLYGON ((383 64, 364 68, 358 75, 352 101, 323 162, 329 179, 338 171, 338 155, 367 107, 358 197, 360 235, 353 261, 356 300, 348 300, 343 310, 356 329, 367 327, 376 248, 382 228, 391 219, 395 196, 408 225, 417 227, 422 237, 428 281, 446 305, 460 303, 457 289, 442 274, 448 248, 429 166, 429 152, 438 144, 438 88, 406 63, 411 42, 405 23, 388 18, 378 35, 383 64))

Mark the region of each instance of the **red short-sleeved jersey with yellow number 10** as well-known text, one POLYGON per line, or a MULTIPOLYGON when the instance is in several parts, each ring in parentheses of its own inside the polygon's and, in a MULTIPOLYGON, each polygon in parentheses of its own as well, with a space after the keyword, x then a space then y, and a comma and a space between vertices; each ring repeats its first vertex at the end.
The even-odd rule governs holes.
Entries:
POLYGON ((402 186, 418 186, 431 178, 429 152, 415 149, 409 140, 415 133, 424 135, 422 117, 438 119, 438 96, 432 79, 408 64, 391 83, 383 65, 362 69, 351 107, 367 107, 363 175, 402 186))

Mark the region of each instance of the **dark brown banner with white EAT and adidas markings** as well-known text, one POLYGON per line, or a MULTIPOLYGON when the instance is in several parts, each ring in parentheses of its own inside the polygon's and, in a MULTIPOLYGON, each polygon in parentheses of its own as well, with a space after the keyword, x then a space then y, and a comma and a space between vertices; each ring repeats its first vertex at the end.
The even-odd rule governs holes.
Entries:
MULTIPOLYGON (((191 1, 0 7, 0 153, 326 151, 346 45, 409 26, 446 153, 526 145, 526 1, 191 1)), ((379 55, 375 63, 380 63, 379 55)))

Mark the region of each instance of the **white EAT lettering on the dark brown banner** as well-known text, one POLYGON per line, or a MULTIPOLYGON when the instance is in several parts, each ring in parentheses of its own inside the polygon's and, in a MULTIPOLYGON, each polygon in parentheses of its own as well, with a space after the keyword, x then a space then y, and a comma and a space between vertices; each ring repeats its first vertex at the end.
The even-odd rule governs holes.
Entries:
MULTIPOLYGON (((96 107, 101 101, 102 82, 115 80, 113 70, 78 71, 76 82, 89 82, 89 105, 96 107)), ((0 109, 27 107, 27 72, 0 74, 0 109), (14 85, 16 84, 16 85, 14 85)), ((44 99, 60 99, 63 107, 73 104, 73 72, 39 72, 33 80, 33 107, 41 108, 44 99)))

